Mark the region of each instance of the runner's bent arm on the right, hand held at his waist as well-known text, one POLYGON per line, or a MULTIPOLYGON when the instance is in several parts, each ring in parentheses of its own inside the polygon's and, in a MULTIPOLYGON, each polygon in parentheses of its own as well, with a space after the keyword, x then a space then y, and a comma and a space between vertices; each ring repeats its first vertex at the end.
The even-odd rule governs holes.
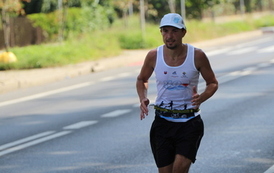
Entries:
MULTIPOLYGON (((195 50, 195 65, 206 82, 206 88, 204 92, 198 94, 196 91, 193 95, 193 105, 196 105, 198 108, 201 103, 209 99, 217 91, 218 81, 210 66, 207 56, 201 49, 195 50)), ((194 90, 196 90, 196 88, 194 88, 194 90)))

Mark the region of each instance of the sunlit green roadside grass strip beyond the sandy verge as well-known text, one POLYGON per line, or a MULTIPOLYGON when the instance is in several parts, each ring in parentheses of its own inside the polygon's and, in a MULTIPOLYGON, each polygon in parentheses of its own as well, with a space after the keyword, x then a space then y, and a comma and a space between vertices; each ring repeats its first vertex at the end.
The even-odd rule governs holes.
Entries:
MULTIPOLYGON (((132 16, 127 21, 117 20, 109 29, 70 36, 62 43, 11 48, 18 61, 0 63, 0 70, 63 66, 116 56, 123 49, 149 49, 163 44, 158 25, 147 23, 146 32, 142 34, 138 16, 132 16)), ((187 20, 186 25, 184 42, 193 43, 274 26, 274 15, 256 19, 246 17, 225 23, 187 20)))

